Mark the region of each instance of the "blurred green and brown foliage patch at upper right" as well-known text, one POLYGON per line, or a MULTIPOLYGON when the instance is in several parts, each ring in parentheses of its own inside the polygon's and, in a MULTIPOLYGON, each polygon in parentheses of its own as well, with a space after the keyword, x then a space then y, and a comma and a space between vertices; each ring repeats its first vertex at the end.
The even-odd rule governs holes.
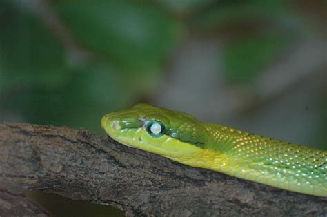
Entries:
POLYGON ((283 0, 217 1, 192 23, 196 31, 218 32, 225 38, 222 61, 226 77, 232 83, 249 84, 297 41, 297 34, 304 31, 297 19, 283 0))

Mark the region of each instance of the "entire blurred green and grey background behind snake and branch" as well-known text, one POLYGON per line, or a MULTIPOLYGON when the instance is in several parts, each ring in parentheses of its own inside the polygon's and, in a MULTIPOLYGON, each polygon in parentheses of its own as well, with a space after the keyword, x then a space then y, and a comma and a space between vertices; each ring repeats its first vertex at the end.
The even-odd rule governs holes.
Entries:
MULTIPOLYGON (((103 114, 150 103, 327 149, 326 7, 322 0, 1 0, 0 123, 105 135, 103 114)), ((30 196, 54 216, 123 216, 30 196)))

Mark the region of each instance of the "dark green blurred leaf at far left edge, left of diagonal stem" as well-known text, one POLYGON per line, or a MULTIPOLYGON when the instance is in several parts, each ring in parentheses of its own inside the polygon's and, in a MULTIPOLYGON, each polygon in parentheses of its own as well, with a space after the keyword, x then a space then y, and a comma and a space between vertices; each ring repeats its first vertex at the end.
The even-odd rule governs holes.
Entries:
POLYGON ((66 55, 39 19, 6 5, 0 14, 1 87, 54 87, 67 81, 66 55))

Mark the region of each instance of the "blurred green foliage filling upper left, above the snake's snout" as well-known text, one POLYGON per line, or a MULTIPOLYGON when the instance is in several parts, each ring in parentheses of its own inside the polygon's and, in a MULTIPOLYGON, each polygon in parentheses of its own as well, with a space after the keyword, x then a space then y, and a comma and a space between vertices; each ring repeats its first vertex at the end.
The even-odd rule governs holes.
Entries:
POLYGON ((126 107, 155 85, 180 35, 179 22, 148 3, 59 1, 54 10, 95 56, 76 64, 37 13, 9 1, 1 8, 1 110, 30 123, 99 132, 109 108, 126 107))

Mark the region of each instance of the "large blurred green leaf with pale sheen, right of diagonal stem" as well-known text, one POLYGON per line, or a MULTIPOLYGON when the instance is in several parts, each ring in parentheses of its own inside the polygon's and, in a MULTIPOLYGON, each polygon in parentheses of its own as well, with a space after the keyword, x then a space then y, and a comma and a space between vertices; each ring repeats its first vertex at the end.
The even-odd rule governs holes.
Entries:
POLYGON ((179 24, 148 3, 62 1, 57 11, 88 50, 123 71, 154 72, 179 36, 179 24))

